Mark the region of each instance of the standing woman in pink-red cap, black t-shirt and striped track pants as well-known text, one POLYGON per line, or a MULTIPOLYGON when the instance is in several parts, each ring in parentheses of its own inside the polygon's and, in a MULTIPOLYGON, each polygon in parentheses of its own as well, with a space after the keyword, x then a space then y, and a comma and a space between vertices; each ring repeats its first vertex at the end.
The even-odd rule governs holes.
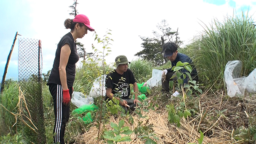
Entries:
POLYGON ((79 14, 75 19, 66 19, 64 26, 71 29, 58 43, 53 68, 47 85, 53 96, 55 124, 54 143, 64 144, 64 131, 69 120, 69 105, 75 80, 75 64, 79 60, 75 40, 94 31, 87 16, 79 14))

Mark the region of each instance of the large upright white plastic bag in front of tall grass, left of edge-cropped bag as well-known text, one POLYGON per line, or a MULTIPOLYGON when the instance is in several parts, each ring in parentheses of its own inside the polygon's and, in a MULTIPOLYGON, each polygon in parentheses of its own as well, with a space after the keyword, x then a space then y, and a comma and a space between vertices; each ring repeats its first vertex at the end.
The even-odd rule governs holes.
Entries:
POLYGON ((227 95, 229 97, 244 96, 246 77, 240 77, 241 70, 241 61, 228 61, 225 66, 224 80, 227 87, 227 95))

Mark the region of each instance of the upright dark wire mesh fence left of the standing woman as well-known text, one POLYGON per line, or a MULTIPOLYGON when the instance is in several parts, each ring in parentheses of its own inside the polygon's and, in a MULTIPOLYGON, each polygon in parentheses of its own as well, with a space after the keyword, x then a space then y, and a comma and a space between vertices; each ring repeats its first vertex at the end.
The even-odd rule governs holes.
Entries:
POLYGON ((19 38, 19 86, 27 102, 29 112, 23 129, 27 143, 46 144, 42 96, 41 41, 19 38), (31 121, 29 119, 31 117, 31 121), (34 124, 34 125, 33 125, 34 124))

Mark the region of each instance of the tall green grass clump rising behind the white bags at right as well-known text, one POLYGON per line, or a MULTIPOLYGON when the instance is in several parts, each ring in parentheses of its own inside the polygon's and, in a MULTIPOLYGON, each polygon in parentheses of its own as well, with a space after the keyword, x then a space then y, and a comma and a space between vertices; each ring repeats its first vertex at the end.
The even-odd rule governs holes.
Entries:
POLYGON ((216 88, 221 88, 228 61, 243 62, 241 76, 247 76, 256 67, 256 28, 251 17, 213 19, 213 23, 204 28, 202 37, 197 37, 186 48, 204 82, 213 84, 216 81, 216 88))

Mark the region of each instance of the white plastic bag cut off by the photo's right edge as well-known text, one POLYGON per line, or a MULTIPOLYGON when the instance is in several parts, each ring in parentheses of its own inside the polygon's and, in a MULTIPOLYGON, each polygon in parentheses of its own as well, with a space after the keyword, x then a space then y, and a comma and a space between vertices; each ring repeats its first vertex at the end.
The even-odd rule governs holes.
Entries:
POLYGON ((256 69, 245 78, 245 85, 248 93, 256 93, 256 69))

